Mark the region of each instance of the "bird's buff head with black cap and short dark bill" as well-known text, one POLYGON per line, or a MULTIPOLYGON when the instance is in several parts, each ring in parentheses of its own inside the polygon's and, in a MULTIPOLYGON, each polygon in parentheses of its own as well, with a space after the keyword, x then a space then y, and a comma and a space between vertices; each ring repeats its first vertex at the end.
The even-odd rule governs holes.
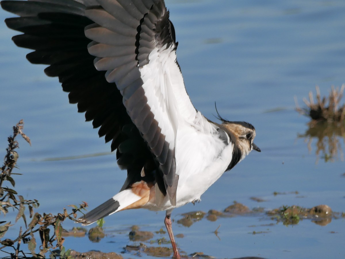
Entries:
POLYGON ((223 121, 222 126, 225 127, 235 137, 234 142, 243 155, 248 155, 252 150, 261 152, 261 150, 254 144, 255 128, 252 124, 243 121, 223 121))

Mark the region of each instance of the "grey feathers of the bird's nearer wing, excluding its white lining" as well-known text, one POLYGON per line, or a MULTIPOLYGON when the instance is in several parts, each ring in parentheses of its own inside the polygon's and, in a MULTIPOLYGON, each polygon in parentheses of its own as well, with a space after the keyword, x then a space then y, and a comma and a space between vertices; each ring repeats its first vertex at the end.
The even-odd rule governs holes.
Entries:
MULTIPOLYGON (((175 44, 169 14, 162 0, 98 0, 99 6, 86 10, 96 26, 86 28, 93 40, 89 53, 96 56, 95 67, 106 70, 108 82, 115 82, 127 112, 147 142, 158 163, 157 177, 164 179, 160 190, 176 204, 178 177, 175 150, 169 149, 158 121, 150 111, 139 67, 149 62, 155 48, 175 44)), ((156 182, 162 182, 156 179, 156 182)))

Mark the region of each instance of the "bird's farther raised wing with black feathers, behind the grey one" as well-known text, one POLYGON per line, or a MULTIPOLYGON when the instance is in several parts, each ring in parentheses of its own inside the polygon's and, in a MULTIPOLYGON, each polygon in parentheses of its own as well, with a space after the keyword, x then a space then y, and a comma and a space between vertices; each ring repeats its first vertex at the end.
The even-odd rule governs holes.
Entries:
MULTIPOLYGON (((5 20, 9 28, 23 32, 12 38, 14 43, 34 50, 27 54, 31 63, 49 65, 45 73, 59 77, 70 103, 78 103, 78 111, 85 112, 93 128, 100 127, 98 134, 111 141, 111 151, 117 149, 117 163, 128 172, 125 189, 141 180, 144 166, 154 170, 156 165, 116 84, 108 83, 105 72, 93 64, 95 57, 87 49, 91 40, 84 32, 93 21, 85 16, 85 4, 74 0, 1 1, 4 10, 20 16, 5 20)), ((88 0, 88 4, 98 3, 88 0)))

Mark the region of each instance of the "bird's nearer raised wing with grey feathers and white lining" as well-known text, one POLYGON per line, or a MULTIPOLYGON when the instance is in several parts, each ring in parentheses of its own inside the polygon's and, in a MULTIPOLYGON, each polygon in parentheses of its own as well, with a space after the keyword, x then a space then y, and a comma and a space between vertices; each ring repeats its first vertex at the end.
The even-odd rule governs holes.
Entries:
POLYGON ((98 0, 86 10, 95 67, 115 82, 127 112, 159 162, 165 189, 176 203, 175 140, 179 120, 192 122, 191 104, 176 61, 175 32, 162 0, 98 0))

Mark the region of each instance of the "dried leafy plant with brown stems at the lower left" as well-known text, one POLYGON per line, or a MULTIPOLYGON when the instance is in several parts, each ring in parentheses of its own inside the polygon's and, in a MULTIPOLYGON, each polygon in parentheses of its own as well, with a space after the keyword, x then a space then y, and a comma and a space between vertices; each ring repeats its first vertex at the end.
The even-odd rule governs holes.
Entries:
MULTIPOLYGON (((32 254, 30 258, 45 258, 45 253, 49 249, 62 249, 62 244, 64 239, 62 238, 62 226, 61 222, 65 219, 70 219, 76 222, 82 222, 82 220, 77 219, 77 212, 85 210, 87 203, 83 202, 78 206, 71 205, 72 212, 68 213, 66 209, 63 209, 63 213, 59 213, 54 216, 51 213, 40 215, 39 213, 34 213, 34 208, 39 206, 37 200, 25 200, 23 196, 18 195, 18 193, 8 186, 14 188, 15 182, 12 178, 13 175, 20 175, 18 173, 12 173, 14 168, 17 168, 18 153, 15 151, 19 147, 16 137, 21 135, 29 144, 30 139, 23 133, 23 121, 21 120, 13 127, 13 135, 8 137, 8 148, 6 149, 6 156, 4 158, 3 166, 0 168, 0 213, 6 215, 9 213, 11 208, 13 211, 17 210, 18 214, 15 223, 21 218, 24 221, 25 228, 20 227, 19 235, 15 239, 4 238, 7 230, 13 226, 11 222, 2 221, 0 223, 0 252, 7 253, 9 259, 24 259, 29 258, 22 251, 22 243, 28 243, 28 248, 32 254), (5 183, 6 182, 6 183, 5 183), (5 184, 4 184, 5 183, 5 184), (6 187, 3 187, 6 185, 6 187), (29 218, 32 218, 31 222, 27 226, 26 215, 24 214, 25 207, 28 207, 29 218), (50 228, 54 229, 52 235, 49 235, 50 228), (42 240, 42 246, 39 247, 39 253, 35 252, 36 249, 36 239, 34 238, 34 233, 39 232, 42 240), (29 237, 30 236, 30 237, 29 237), (22 242, 23 240, 23 242, 22 242), (12 253, 6 251, 7 249, 13 249, 12 253)), ((65 249, 65 248, 63 248, 65 249)), ((59 256, 59 255, 58 255, 59 256)))

